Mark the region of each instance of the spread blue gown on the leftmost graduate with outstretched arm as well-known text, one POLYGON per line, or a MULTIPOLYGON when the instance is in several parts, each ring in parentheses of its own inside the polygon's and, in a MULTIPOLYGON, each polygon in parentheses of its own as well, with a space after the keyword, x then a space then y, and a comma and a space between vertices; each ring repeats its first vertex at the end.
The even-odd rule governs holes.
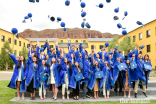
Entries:
MULTIPOLYGON (((17 81, 17 79, 19 77, 19 70, 21 70, 21 75, 22 74, 25 75, 26 68, 24 66, 22 66, 22 64, 21 64, 20 68, 17 68, 17 65, 18 65, 19 62, 18 62, 18 60, 16 60, 16 56, 14 54, 9 54, 9 56, 11 57, 11 59, 15 63, 15 69, 14 69, 14 73, 12 75, 12 78, 10 80, 10 83, 9 83, 9 85, 7 87, 16 89, 17 88, 16 81, 17 81)), ((26 76, 24 78, 26 78, 26 76)), ((26 92, 26 90, 25 90, 25 80, 22 79, 22 76, 21 76, 21 83, 20 83, 20 92, 26 92)))

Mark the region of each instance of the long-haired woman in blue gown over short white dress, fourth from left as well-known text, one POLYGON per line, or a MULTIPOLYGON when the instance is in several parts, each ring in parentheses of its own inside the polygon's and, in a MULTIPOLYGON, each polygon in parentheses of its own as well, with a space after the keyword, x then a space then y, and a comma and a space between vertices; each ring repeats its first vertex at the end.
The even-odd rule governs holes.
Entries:
POLYGON ((53 91, 53 97, 52 99, 57 100, 57 93, 58 93, 58 87, 61 85, 60 83, 60 59, 58 59, 58 62, 55 57, 51 59, 51 63, 49 65, 48 69, 48 75, 49 78, 49 84, 52 84, 52 91, 53 91))

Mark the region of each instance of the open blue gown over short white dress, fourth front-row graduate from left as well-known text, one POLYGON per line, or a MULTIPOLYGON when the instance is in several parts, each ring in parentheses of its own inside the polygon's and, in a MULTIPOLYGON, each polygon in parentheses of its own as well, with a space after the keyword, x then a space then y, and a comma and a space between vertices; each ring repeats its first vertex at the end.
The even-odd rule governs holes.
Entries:
MULTIPOLYGON (((59 87, 61 86, 61 83, 60 83, 60 72, 59 72, 59 69, 60 69, 60 64, 56 63, 53 65, 53 75, 54 75, 54 79, 55 79, 55 86, 56 87, 59 87)), ((49 65, 49 69, 48 69, 48 75, 50 76, 49 78, 49 84, 50 84, 50 81, 51 81, 51 71, 50 71, 50 68, 51 68, 51 65, 49 65)))

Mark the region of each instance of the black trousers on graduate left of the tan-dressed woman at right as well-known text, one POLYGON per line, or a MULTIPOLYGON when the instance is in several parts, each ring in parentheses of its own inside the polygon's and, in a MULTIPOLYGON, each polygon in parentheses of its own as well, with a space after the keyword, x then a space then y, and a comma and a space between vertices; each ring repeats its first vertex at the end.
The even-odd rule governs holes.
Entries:
POLYGON ((117 81, 115 82, 115 89, 114 89, 115 92, 117 92, 118 86, 119 86, 119 92, 122 92, 123 80, 121 76, 121 71, 119 71, 119 76, 117 78, 117 81))

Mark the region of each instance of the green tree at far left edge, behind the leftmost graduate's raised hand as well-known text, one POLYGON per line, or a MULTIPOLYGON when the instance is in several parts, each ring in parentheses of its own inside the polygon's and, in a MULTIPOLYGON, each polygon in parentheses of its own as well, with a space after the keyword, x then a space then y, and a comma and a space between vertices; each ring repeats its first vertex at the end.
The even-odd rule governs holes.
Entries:
POLYGON ((6 66, 6 70, 7 70, 8 65, 13 66, 14 62, 12 61, 11 57, 5 52, 5 49, 8 49, 10 51, 10 53, 12 53, 12 49, 11 49, 8 41, 5 41, 5 43, 3 44, 3 47, 1 49, 1 67, 6 66))

